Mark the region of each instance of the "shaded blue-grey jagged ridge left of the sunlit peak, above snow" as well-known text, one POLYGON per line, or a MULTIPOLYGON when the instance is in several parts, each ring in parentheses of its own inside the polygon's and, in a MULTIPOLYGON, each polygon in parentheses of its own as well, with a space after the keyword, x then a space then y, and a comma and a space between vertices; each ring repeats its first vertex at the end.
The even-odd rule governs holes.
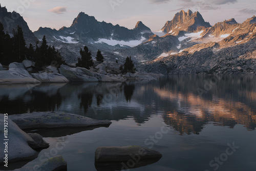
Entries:
MULTIPOLYGON (((59 29, 57 35, 65 36, 66 34, 72 34, 70 36, 82 42, 94 42, 100 38, 130 41, 140 40, 141 37, 148 38, 150 35, 153 35, 148 27, 144 26, 142 23, 139 25, 140 29, 136 27, 130 30, 119 25, 114 26, 104 21, 98 22, 94 16, 80 12, 74 19, 72 25, 69 28, 63 27, 59 29)), ((56 35, 56 30, 52 29, 51 32, 49 28, 39 28, 34 34, 40 37, 46 33, 46 30, 49 36, 56 35)), ((56 38, 61 39, 61 37, 56 38)))

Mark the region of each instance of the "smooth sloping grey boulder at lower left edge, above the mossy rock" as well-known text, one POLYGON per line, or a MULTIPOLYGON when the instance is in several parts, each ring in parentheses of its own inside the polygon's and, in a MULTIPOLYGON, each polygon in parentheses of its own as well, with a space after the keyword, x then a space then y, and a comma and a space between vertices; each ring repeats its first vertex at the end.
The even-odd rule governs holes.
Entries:
MULTIPOLYGON (((0 114, 4 118, 3 114, 0 114)), ((1 125, 4 125, 4 119, 0 120, 1 125)), ((38 152, 35 149, 48 148, 42 137, 32 134, 31 138, 27 133, 22 131, 10 118, 8 118, 8 161, 22 161, 35 159, 38 152), (35 141, 35 140, 36 141, 35 141)), ((0 128, 0 135, 4 137, 4 126, 0 128)), ((4 143, 0 144, 1 149, 4 149, 4 143)), ((4 153, 0 153, 0 163, 4 164, 4 153)))

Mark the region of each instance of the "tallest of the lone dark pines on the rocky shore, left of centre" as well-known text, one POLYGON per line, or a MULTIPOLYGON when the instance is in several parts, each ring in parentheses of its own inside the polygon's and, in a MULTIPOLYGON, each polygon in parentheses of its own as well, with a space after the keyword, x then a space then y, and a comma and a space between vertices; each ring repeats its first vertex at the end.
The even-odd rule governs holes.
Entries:
POLYGON ((76 63, 76 67, 83 67, 86 69, 90 69, 93 66, 92 53, 89 51, 87 46, 84 46, 83 50, 80 49, 81 58, 78 58, 78 63, 76 63))

